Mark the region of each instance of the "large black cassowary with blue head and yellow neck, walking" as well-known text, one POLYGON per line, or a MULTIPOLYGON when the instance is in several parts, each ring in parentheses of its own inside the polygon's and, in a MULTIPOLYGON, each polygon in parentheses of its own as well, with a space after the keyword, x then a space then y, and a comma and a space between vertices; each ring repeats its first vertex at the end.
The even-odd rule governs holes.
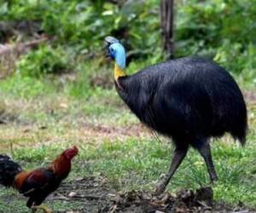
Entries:
POLYGON ((218 176, 209 139, 225 132, 245 144, 247 108, 241 90, 223 67, 200 57, 184 57, 125 74, 125 49, 106 37, 115 61, 114 83, 119 96, 143 124, 169 136, 175 151, 169 170, 155 190, 163 193, 189 147, 204 158, 211 181, 218 176))

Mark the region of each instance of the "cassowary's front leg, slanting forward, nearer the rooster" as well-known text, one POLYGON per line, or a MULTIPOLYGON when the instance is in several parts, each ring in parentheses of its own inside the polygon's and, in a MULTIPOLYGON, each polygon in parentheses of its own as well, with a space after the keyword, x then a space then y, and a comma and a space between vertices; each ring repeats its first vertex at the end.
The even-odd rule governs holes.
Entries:
POLYGON ((185 158, 185 156, 188 152, 188 149, 189 149, 188 146, 177 147, 175 149, 174 155, 172 158, 172 163, 170 164, 169 170, 168 170, 166 176, 164 177, 164 179, 162 181, 160 181, 160 184, 156 188, 154 194, 158 195, 160 193, 165 192, 166 187, 167 187, 169 181, 171 180, 173 174, 175 173, 175 171, 177 170, 179 165, 183 162, 183 158, 185 158))

